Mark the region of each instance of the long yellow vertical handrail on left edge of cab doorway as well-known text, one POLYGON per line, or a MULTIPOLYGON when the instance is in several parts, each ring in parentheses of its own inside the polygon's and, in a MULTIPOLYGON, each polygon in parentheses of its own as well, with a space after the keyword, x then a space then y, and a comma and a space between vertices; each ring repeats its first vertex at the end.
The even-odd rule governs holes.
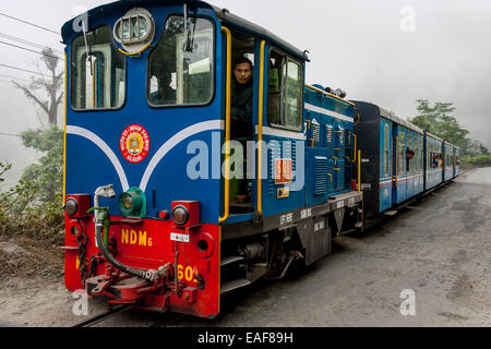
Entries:
POLYGON ((223 224, 230 215, 230 112, 231 112, 231 33, 225 26, 221 32, 227 35, 227 83, 226 83, 226 113, 225 113, 225 198, 224 216, 218 218, 218 224, 223 224))

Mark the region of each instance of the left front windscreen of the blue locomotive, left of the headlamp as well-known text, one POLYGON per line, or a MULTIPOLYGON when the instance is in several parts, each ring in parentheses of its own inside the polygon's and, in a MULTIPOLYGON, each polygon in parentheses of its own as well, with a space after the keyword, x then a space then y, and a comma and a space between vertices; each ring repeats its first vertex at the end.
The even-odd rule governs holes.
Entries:
POLYGON ((108 26, 80 35, 71 48, 71 105, 76 110, 120 108, 127 88, 127 62, 108 26))

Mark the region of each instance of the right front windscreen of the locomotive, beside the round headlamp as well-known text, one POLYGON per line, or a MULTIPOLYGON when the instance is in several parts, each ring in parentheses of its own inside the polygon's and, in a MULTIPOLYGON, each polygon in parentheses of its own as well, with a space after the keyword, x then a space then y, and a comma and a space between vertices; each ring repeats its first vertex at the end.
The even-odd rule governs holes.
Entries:
POLYGON ((214 26, 209 20, 170 16, 148 58, 147 96, 153 107, 206 105, 214 95, 214 26))

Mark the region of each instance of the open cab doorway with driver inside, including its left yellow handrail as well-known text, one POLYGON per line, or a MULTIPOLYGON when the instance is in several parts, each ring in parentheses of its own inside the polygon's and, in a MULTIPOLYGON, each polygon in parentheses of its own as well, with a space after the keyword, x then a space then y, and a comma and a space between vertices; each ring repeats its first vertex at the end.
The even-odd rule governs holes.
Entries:
MULTIPOLYGON (((221 148, 229 156, 225 158, 225 215, 220 221, 226 221, 229 215, 248 215, 254 212, 253 186, 254 176, 250 168, 248 146, 253 141, 253 119, 258 107, 256 89, 259 86, 255 46, 256 39, 236 29, 223 27, 226 43, 223 56, 227 64, 223 67, 224 85, 227 91, 225 98, 226 134, 221 148)), ((225 41, 225 40, 224 40, 225 41)))

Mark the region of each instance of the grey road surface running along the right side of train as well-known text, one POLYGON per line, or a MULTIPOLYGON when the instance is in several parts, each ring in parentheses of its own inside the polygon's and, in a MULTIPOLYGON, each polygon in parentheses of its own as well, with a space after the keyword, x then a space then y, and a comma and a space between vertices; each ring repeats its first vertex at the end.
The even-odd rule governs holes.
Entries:
POLYGON ((176 326, 490 326, 490 208, 491 168, 471 171, 366 236, 337 239, 302 276, 176 326))

